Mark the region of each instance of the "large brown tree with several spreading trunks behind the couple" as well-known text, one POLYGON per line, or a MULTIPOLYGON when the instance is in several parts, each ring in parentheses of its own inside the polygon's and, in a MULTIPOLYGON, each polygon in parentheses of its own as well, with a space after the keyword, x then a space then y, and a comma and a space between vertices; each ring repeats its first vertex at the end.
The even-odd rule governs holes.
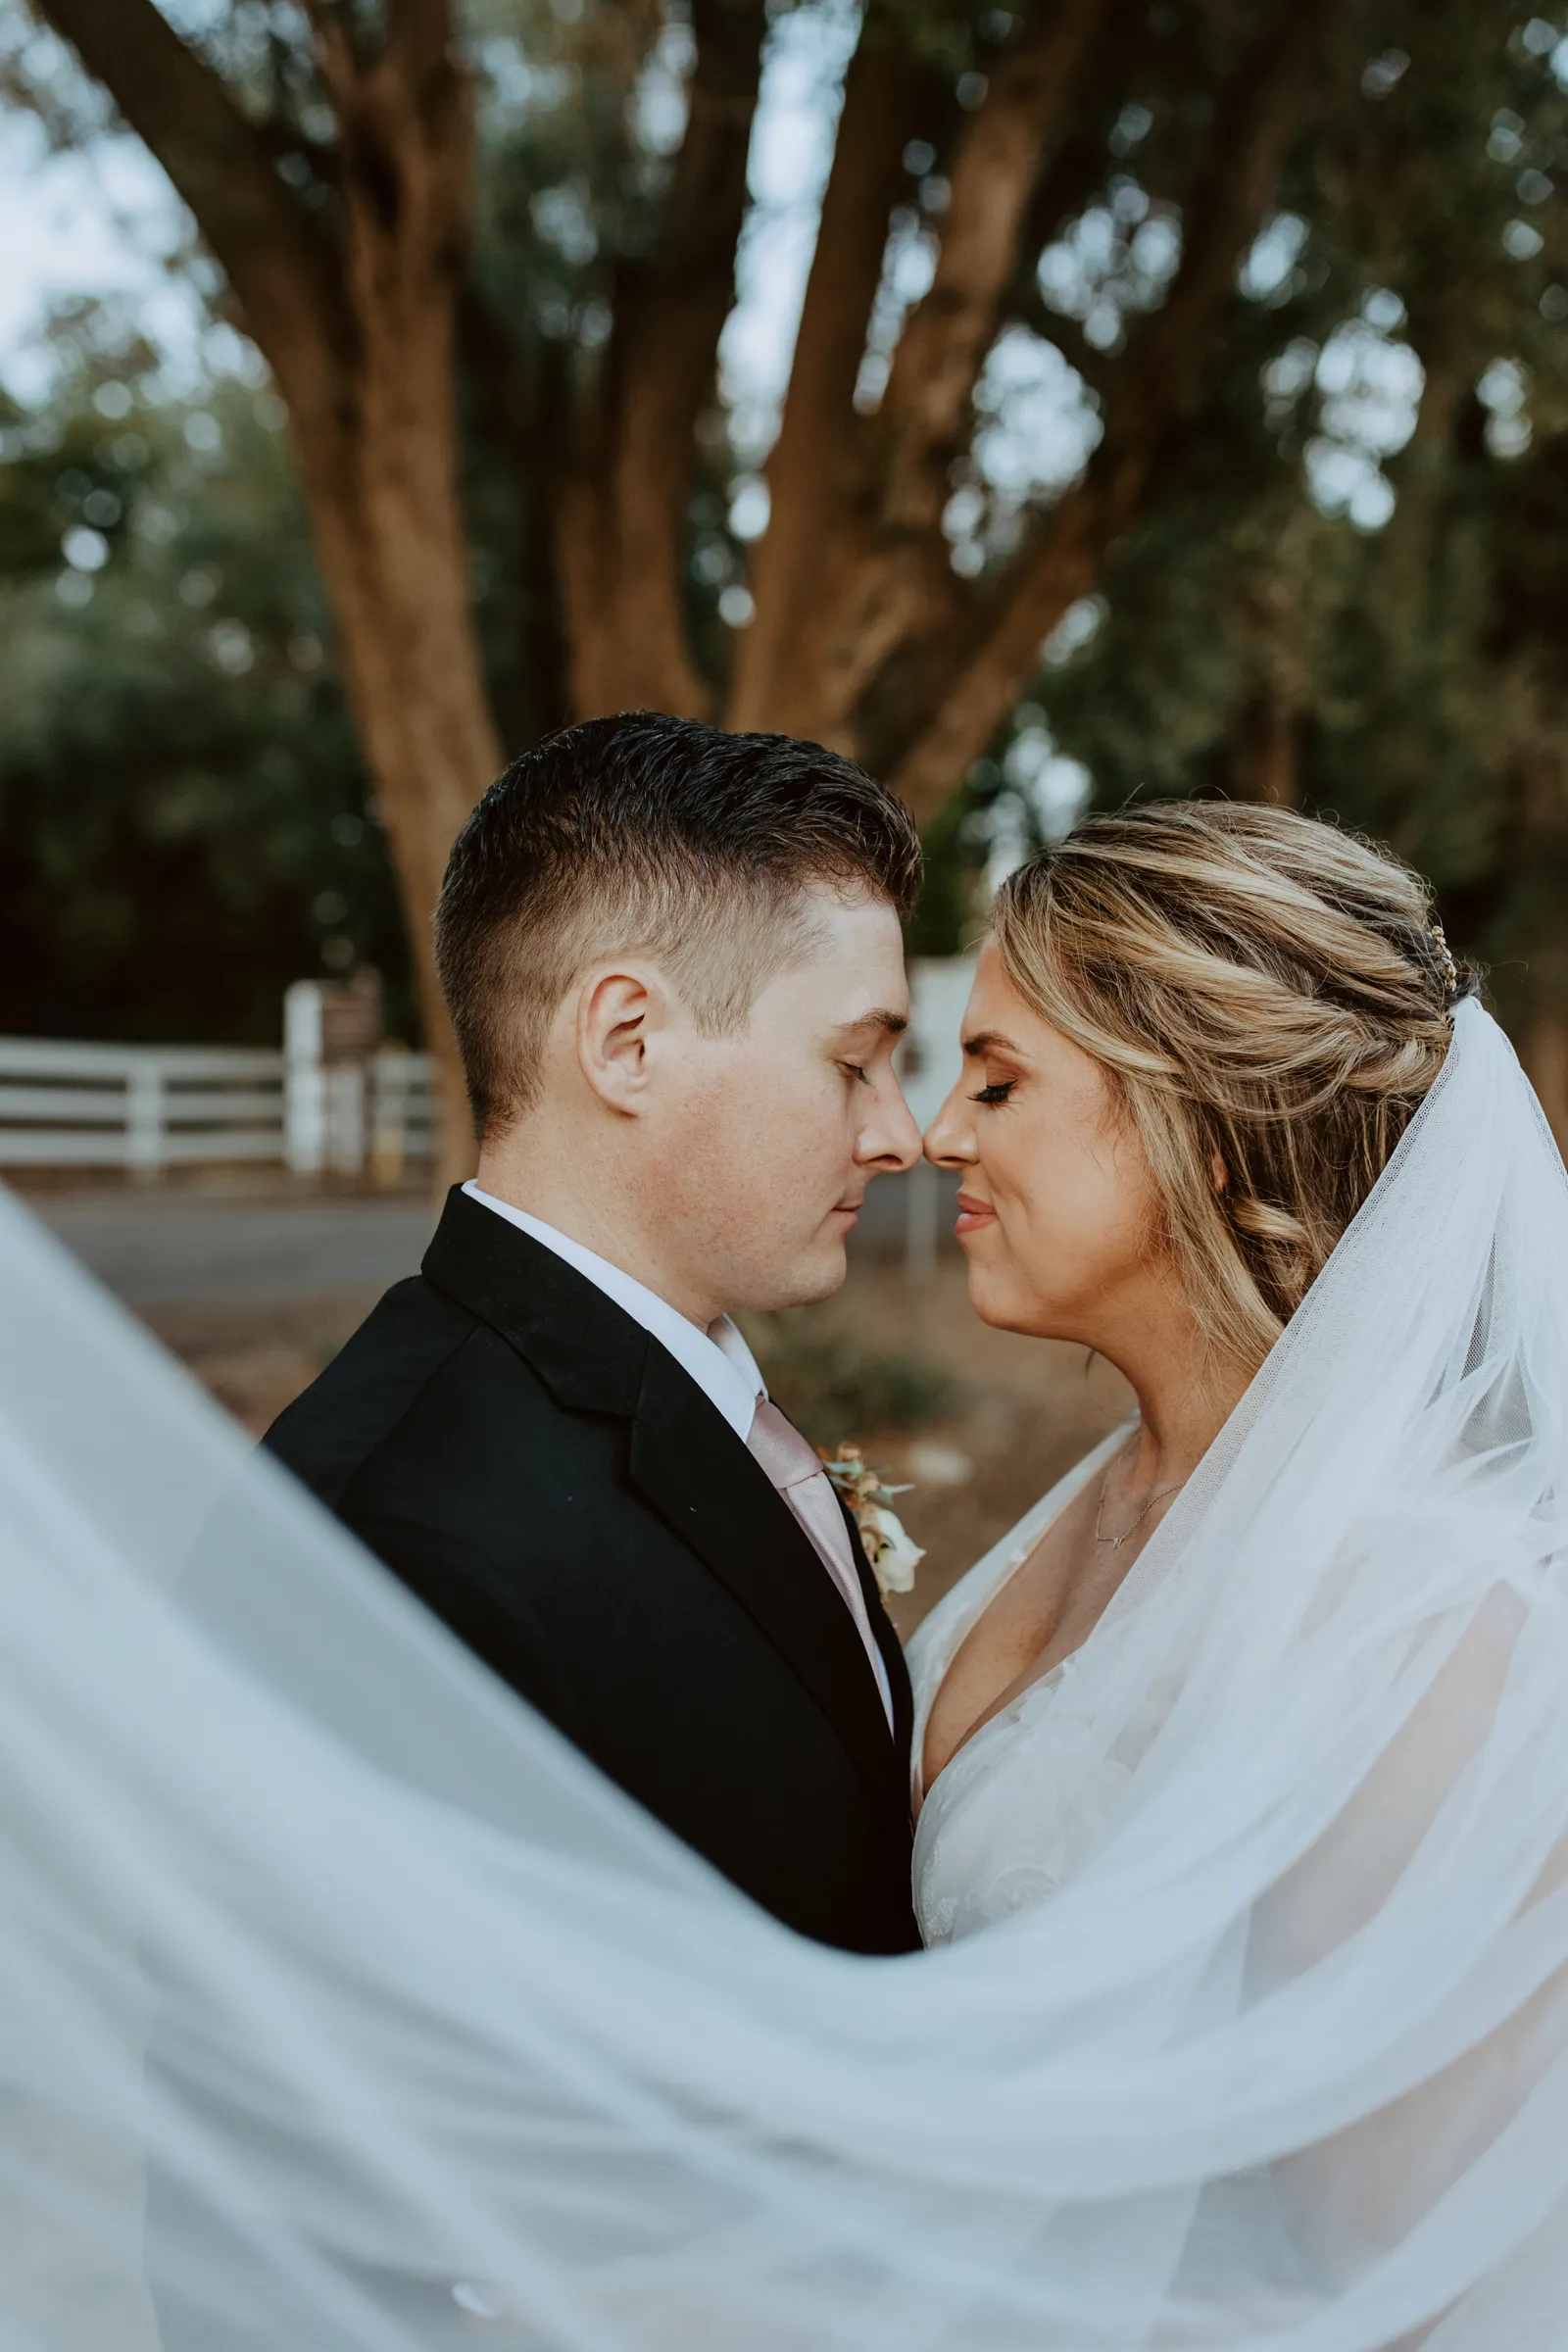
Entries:
POLYGON ((1281 174, 1345 209, 1375 186, 1396 113, 1368 61, 1403 78, 1399 108, 1410 92, 1465 108, 1455 56, 1474 42, 1453 28, 1507 38, 1495 0, 867 0, 766 461, 769 524, 717 628, 691 555, 703 501, 726 492, 719 336, 748 233, 764 0, 588 0, 538 21, 522 0, 475 0, 468 47, 449 0, 228 0, 188 35, 153 0, 38 5, 169 172, 287 400, 451 1164, 465 1143, 428 910, 501 757, 463 430, 524 501, 520 626, 541 720, 656 703, 816 734, 931 818, 1041 640, 1157 506, 1248 308, 1237 273, 1281 174), (672 28, 684 129, 663 153, 637 96, 672 28), (515 139, 475 136, 475 96, 496 42, 527 64, 529 45, 562 40, 576 146, 541 191, 515 139), (557 238, 548 303, 508 249, 508 221, 536 221, 541 193, 581 226, 557 238), (912 303, 907 270, 929 280, 912 303), (987 433, 1009 367, 1039 374, 1044 358, 1072 388, 1084 463, 1060 480, 1025 468, 1009 489, 987 433))

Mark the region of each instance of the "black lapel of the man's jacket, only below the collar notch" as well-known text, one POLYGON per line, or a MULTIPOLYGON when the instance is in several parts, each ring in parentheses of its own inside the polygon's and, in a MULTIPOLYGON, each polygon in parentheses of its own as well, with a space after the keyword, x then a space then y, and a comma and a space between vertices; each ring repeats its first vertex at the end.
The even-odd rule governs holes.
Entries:
POLYGON ((903 1757, 832 1578, 766 1472, 656 1341, 632 1421, 630 1475, 790 1661, 877 1797, 898 1790, 903 1757))

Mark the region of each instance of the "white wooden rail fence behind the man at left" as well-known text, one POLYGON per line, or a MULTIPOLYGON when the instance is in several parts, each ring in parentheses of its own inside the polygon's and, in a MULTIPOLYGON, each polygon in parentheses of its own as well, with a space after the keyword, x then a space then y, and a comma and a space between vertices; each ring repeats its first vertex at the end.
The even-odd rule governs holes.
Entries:
POLYGON ((263 1049, 0 1037, 0 1167, 129 1169, 270 1162, 395 1181, 430 1157, 430 1070, 383 1047, 320 1068, 263 1049))

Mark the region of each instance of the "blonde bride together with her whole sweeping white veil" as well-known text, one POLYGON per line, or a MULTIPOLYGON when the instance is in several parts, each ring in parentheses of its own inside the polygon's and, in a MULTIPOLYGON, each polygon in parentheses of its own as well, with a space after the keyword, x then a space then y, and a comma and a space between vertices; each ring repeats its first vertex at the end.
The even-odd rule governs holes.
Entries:
POLYGON ((1568 2345, 1533 1096, 1420 887, 1255 809, 1016 875, 966 1063, 976 1308, 1140 1411, 917 1635, 891 1962, 639 1816, 5 1211, 7 2340, 153 2352, 155 2173, 214 2352, 1568 2345))

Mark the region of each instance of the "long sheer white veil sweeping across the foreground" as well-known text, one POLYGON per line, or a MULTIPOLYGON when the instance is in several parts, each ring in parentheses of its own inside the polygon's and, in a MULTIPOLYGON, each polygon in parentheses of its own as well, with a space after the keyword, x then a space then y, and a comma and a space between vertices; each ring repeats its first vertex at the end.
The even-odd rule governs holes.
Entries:
POLYGON ((2 2345, 1568 2345, 1568 1185, 1479 1007, 1041 1715, 1110 1825, 907 1959, 719 1884, 5 1202, 0 1317, 2 2345))

